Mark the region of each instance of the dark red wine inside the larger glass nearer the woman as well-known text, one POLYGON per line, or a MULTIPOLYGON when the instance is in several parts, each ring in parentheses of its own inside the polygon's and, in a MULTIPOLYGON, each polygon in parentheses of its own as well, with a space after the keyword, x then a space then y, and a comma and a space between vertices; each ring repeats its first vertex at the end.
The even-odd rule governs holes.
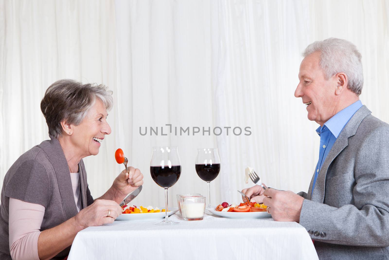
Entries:
POLYGON ((172 165, 171 168, 165 165, 161 166, 150 166, 151 178, 156 184, 165 188, 172 187, 178 180, 181 174, 181 165, 172 165))

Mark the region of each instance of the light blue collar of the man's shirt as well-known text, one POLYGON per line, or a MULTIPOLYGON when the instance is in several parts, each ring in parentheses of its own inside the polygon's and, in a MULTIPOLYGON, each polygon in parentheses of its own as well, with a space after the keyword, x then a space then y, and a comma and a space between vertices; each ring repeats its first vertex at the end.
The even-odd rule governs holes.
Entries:
MULTIPOLYGON (((343 127, 349 122, 350 118, 354 115, 354 113, 362 107, 362 102, 360 100, 350 104, 347 108, 340 110, 333 117, 331 117, 327 122, 324 123, 323 126, 326 126, 329 131, 338 138, 340 132, 343 127)), ((321 127, 316 129, 316 132, 320 133, 321 127)), ((319 134, 320 135, 320 134, 319 134)))

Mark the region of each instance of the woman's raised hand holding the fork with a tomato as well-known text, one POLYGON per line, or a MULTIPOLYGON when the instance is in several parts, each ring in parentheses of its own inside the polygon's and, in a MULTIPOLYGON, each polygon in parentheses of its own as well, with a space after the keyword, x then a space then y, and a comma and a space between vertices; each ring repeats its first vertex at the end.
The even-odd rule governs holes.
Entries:
POLYGON ((123 170, 116 177, 112 187, 114 187, 119 193, 123 196, 135 191, 140 185, 143 184, 143 174, 139 169, 135 169, 134 167, 128 167, 130 173, 127 173, 126 169, 123 170))

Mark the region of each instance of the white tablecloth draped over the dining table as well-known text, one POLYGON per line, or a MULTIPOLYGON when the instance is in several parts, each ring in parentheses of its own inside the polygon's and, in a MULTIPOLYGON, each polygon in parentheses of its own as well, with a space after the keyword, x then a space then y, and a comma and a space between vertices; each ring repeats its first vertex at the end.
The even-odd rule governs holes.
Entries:
POLYGON ((296 222, 170 216, 178 225, 115 221, 77 234, 68 260, 77 259, 318 259, 307 230, 296 222))

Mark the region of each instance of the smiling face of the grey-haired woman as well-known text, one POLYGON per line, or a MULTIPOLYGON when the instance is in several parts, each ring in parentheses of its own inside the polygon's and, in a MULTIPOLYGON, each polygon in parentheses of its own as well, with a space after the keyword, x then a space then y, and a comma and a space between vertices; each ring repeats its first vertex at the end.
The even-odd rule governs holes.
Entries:
POLYGON ((107 116, 104 104, 96 99, 81 124, 73 126, 71 142, 78 150, 77 154, 82 154, 82 157, 98 154, 104 136, 111 133, 107 116))

